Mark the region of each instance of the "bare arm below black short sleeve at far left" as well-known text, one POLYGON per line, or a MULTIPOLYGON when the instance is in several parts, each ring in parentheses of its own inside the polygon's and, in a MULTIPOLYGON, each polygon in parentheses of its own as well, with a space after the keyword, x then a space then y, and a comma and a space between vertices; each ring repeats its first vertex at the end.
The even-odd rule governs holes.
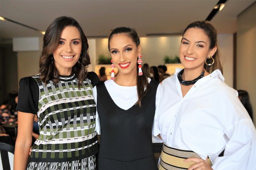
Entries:
POLYGON ((29 148, 32 144, 32 130, 35 114, 18 112, 18 135, 14 151, 14 170, 25 170, 29 148))

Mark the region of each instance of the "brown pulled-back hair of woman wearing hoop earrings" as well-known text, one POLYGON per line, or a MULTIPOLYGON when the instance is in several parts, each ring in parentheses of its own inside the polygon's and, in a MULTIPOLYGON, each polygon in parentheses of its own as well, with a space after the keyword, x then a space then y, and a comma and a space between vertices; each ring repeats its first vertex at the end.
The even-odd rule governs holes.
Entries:
POLYGON ((187 26, 187 28, 183 32, 182 37, 184 36, 185 32, 189 28, 200 28, 204 30, 205 34, 209 37, 209 40, 210 40, 210 49, 213 49, 215 46, 217 47, 217 51, 212 56, 214 58, 214 64, 211 66, 204 64, 204 68, 209 73, 213 72, 216 69, 219 69, 222 72, 222 59, 221 59, 219 48, 217 45, 217 30, 213 27, 213 25, 209 21, 195 21, 190 23, 187 26))

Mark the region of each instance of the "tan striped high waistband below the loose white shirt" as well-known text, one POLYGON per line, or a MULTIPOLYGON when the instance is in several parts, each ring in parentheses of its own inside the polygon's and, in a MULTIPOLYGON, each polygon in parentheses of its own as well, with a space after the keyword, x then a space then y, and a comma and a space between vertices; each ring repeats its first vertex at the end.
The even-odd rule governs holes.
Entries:
MULTIPOLYGON (((187 158, 201 158, 197 153, 193 151, 179 150, 163 145, 163 149, 160 156, 160 163, 158 170, 187 170, 195 162, 184 162, 187 158)), ((210 159, 208 162, 211 165, 210 159)))

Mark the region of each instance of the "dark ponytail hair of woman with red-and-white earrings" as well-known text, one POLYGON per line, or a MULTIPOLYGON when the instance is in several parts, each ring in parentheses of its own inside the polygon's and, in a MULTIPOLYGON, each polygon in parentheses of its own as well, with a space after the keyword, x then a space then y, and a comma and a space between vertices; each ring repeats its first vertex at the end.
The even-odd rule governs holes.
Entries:
MULTIPOLYGON (((140 44, 140 40, 139 37, 136 33, 136 31, 134 29, 128 28, 128 27, 119 27, 119 28, 115 28, 110 36, 109 36, 109 51, 110 51, 110 41, 111 38, 113 37, 113 35, 115 34, 127 34, 132 41, 136 44, 136 47, 139 46, 140 44)), ((137 63, 137 71, 138 71, 138 63, 137 63)), ((141 100, 142 98, 146 95, 147 91, 149 90, 149 84, 148 84, 148 80, 147 77, 142 69, 142 73, 143 75, 138 76, 138 74, 136 74, 136 79, 137 79, 137 94, 138 94, 138 101, 136 104, 138 104, 139 106, 141 106, 141 100), (146 90, 144 90, 144 88, 146 87, 146 90)))

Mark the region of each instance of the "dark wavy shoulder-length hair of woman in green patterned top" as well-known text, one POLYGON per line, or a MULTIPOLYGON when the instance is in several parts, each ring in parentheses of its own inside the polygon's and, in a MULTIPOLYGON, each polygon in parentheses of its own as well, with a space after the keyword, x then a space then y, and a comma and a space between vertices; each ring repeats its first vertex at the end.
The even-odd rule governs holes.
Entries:
POLYGON ((79 62, 77 62, 72 67, 73 73, 75 73, 78 78, 79 87, 87 76, 87 68, 88 65, 91 63, 91 59, 88 54, 89 45, 87 38, 79 23, 74 18, 67 16, 61 16, 56 18, 49 25, 45 32, 45 35, 43 37, 42 55, 39 60, 40 80, 43 81, 45 84, 49 80, 52 80, 54 84, 57 84, 59 82, 59 71, 55 67, 52 53, 58 47, 61 33, 66 26, 77 27, 82 40, 82 52, 79 58, 79 62))

